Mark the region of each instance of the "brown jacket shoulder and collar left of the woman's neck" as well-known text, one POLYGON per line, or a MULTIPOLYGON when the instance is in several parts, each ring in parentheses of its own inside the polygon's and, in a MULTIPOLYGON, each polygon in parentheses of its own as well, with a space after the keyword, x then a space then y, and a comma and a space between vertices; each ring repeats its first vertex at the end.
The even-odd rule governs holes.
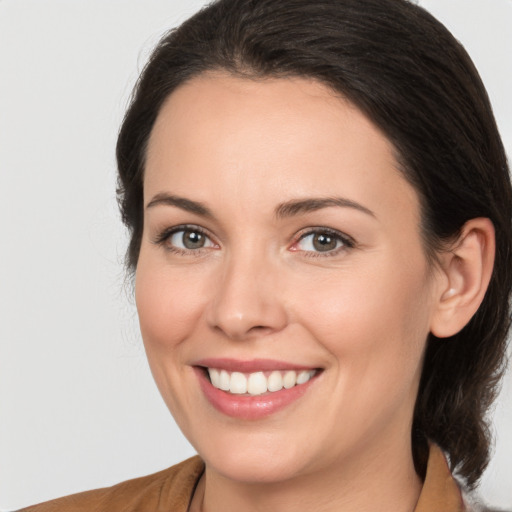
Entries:
POLYGON ((135 512, 142 510, 142 506, 152 512, 178 512, 180 508, 186 511, 203 470, 201 459, 192 457, 152 475, 73 494, 18 512, 135 512))

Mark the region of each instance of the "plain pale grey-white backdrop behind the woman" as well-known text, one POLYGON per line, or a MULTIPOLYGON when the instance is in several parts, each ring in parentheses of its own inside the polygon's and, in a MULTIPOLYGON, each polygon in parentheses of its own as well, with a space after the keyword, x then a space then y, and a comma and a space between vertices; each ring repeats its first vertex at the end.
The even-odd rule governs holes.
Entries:
MULTIPOLYGON (((122 265, 114 146, 149 50, 201 0, 0 0, 0 510, 193 454, 122 265)), ((512 154, 512 1, 420 2, 463 42, 512 154)), ((511 373, 481 493, 512 507, 511 373)))

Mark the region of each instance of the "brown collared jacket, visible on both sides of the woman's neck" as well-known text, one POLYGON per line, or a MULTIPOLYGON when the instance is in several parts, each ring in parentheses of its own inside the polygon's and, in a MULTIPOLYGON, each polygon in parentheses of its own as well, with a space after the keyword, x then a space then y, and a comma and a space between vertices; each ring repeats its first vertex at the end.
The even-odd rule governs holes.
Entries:
MULTIPOLYGON (((201 459, 193 457, 159 473, 73 494, 19 512, 187 512, 203 471, 201 459)), ((469 512, 437 446, 431 446, 427 475, 414 512, 469 512)))

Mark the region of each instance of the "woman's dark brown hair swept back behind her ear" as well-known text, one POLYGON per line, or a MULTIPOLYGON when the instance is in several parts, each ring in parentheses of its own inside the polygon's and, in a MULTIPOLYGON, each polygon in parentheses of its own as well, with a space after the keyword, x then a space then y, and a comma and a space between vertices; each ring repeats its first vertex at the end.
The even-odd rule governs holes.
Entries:
POLYGON ((147 141, 173 90, 205 71, 251 79, 302 76, 329 85, 393 143, 422 208, 427 256, 466 221, 491 219, 496 259, 484 301, 448 339, 430 336, 412 446, 428 442, 470 487, 489 458, 486 412, 506 361, 512 285, 512 191, 484 86, 448 30, 406 0, 218 0, 160 41, 136 85, 117 144, 118 199, 135 270, 143 230, 147 141))

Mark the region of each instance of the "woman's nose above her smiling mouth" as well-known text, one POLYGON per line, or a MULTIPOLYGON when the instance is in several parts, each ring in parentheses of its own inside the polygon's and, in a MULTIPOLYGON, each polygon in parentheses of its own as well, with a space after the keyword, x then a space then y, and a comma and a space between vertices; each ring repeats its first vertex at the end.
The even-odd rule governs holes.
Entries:
POLYGON ((224 263, 207 321, 233 340, 275 333, 287 324, 280 272, 261 255, 234 256, 224 263))

